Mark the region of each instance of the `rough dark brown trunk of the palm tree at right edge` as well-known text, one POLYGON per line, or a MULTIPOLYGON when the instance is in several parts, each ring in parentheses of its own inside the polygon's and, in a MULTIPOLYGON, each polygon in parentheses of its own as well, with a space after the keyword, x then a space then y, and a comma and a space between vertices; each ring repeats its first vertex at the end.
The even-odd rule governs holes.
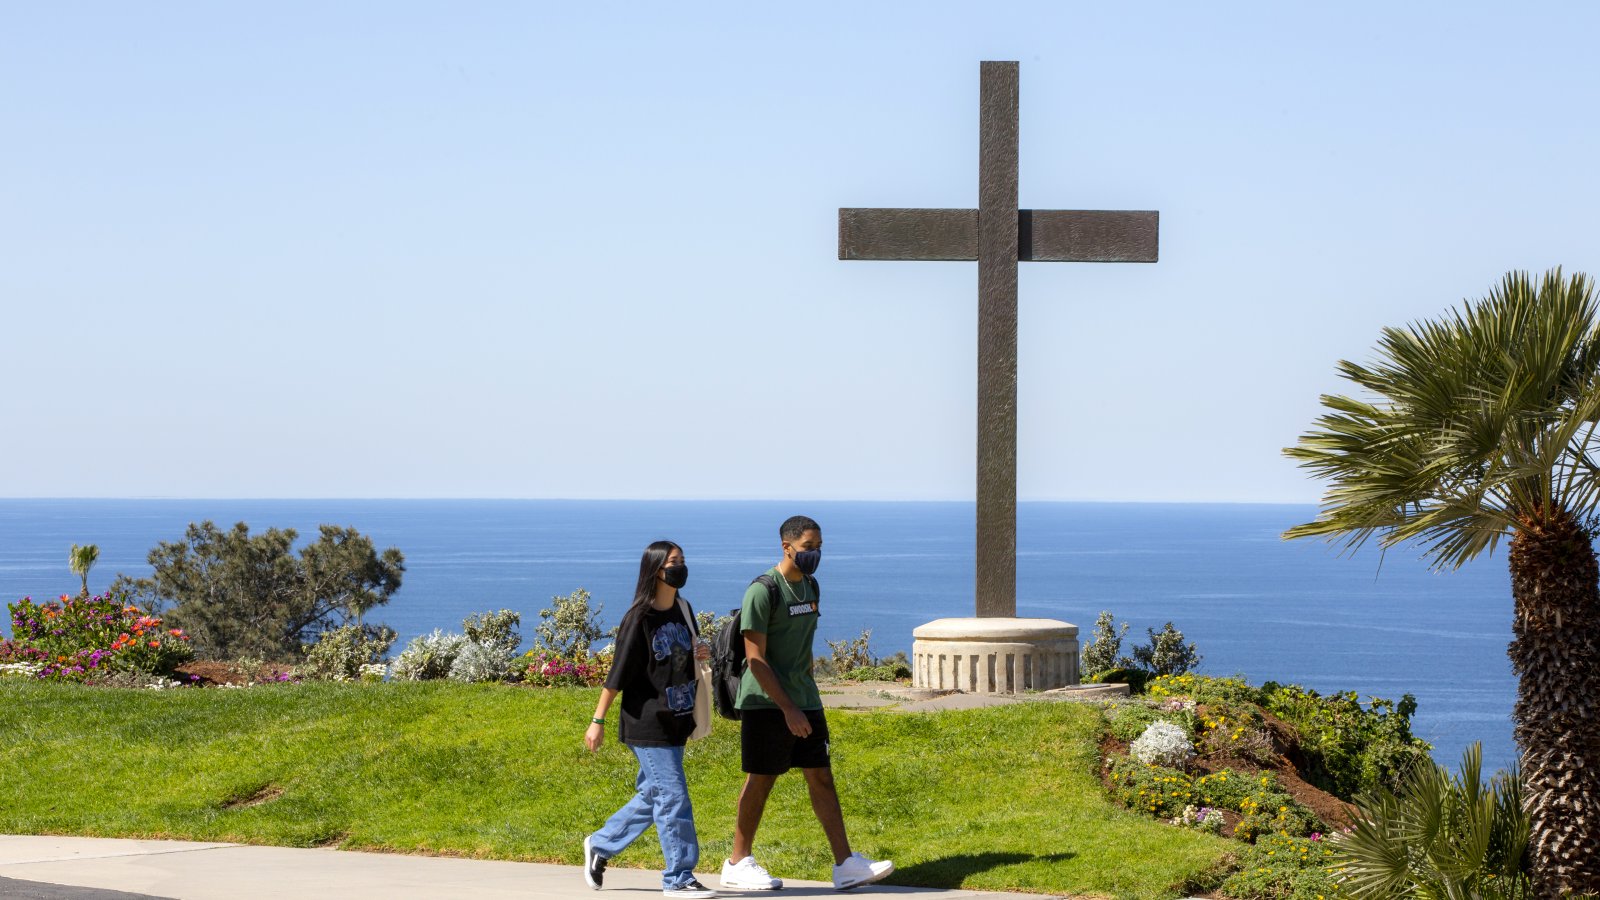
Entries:
POLYGON ((1517 746, 1538 897, 1600 894, 1600 567, 1568 512, 1510 541, 1517 746))

